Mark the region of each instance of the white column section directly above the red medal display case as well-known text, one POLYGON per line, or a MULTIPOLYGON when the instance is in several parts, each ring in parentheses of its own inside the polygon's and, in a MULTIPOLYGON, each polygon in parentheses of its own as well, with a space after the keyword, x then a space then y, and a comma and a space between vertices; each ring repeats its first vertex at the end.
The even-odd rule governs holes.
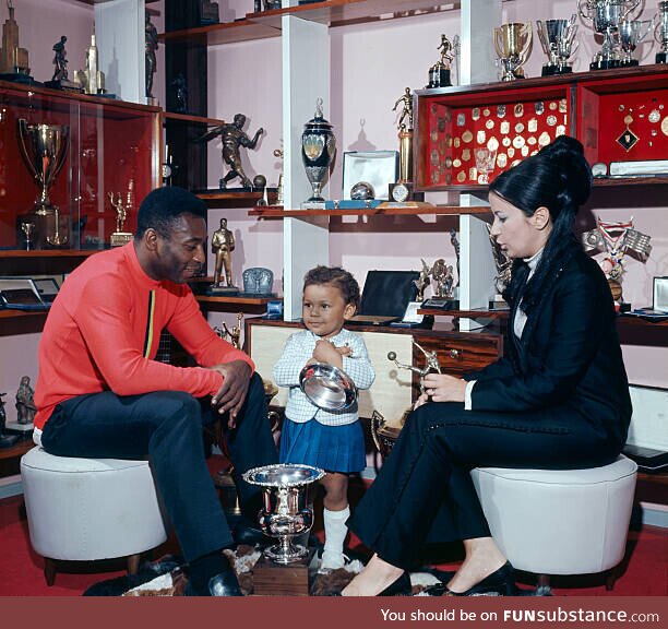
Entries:
POLYGON ((501 0, 462 0, 460 85, 498 81, 493 29, 501 25, 501 0))

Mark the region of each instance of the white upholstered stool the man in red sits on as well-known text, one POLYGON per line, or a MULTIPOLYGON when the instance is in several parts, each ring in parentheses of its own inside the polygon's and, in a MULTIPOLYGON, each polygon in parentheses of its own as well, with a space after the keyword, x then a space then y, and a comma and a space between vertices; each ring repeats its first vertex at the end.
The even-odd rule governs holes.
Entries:
POLYGON ((92 561, 140 554, 167 538, 147 461, 53 456, 33 448, 21 459, 33 548, 49 585, 56 559, 92 561))

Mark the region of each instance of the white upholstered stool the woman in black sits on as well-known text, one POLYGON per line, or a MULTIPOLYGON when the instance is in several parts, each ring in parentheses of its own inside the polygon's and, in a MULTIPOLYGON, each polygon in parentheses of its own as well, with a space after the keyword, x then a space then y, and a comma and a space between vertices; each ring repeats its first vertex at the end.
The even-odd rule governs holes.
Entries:
MULTIPOLYGON (((620 455, 591 470, 478 467, 472 477, 491 533, 517 570, 589 574, 624 556, 637 465, 620 455)), ((610 574, 608 589, 613 584, 610 574)))

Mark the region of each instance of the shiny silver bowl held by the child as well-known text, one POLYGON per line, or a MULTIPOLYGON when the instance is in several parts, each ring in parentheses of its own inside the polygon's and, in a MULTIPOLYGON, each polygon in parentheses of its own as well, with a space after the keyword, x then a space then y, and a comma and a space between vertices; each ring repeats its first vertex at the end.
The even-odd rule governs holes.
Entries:
POLYGON ((344 411, 357 400, 353 379, 326 363, 307 365, 299 373, 299 387, 315 406, 325 411, 344 411))

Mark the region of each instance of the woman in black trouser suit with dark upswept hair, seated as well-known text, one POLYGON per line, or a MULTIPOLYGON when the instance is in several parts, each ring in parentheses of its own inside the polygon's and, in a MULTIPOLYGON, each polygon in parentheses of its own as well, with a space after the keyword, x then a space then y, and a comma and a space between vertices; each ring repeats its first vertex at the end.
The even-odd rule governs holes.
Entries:
POLYGON ((348 521, 374 555, 344 596, 401 593, 425 542, 462 539, 446 594, 515 592, 469 471, 596 467, 631 418, 610 289, 573 235, 591 192, 582 144, 558 138, 490 186, 491 233, 513 259, 505 355, 464 380, 432 373, 348 521))

